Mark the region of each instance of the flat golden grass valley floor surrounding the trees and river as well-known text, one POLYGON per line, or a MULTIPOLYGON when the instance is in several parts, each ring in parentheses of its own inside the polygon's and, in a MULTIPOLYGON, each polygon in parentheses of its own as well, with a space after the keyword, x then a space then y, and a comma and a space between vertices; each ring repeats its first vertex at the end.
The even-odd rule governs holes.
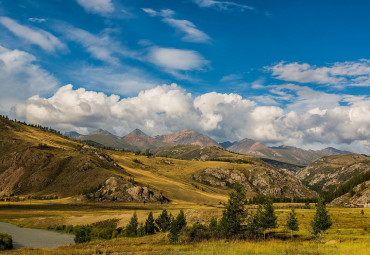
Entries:
MULTIPOLYGON (((0 220, 16 225, 46 228, 55 224, 90 224, 118 218, 125 226, 133 212, 143 222, 150 211, 156 217, 162 209, 177 214, 184 209, 188 224, 208 223, 211 217, 220 218, 222 206, 186 203, 71 203, 73 200, 13 202, 0 204, 0 220), (58 202, 58 203, 56 203, 58 202)), ((297 205, 297 204, 296 204, 297 205)), ((20 249, 8 254, 368 254, 370 250, 370 208, 328 208, 333 226, 320 241, 310 234, 310 221, 315 210, 297 209, 300 230, 291 241, 284 224, 291 204, 275 204, 279 227, 274 230, 279 239, 267 241, 207 241, 194 244, 171 245, 167 234, 159 233, 139 238, 95 240, 85 244, 69 245, 54 250, 20 249), (283 240, 286 239, 286 240, 283 240)), ((250 210, 254 210, 251 208, 250 210)), ((7 254, 5 253, 5 254, 7 254)))

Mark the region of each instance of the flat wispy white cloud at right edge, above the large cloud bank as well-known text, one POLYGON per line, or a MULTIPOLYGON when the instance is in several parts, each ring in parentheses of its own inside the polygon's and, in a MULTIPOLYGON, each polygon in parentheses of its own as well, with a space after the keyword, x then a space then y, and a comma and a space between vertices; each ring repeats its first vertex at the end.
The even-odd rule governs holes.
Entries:
POLYGON ((267 67, 280 80, 342 86, 370 86, 370 60, 336 62, 323 67, 280 62, 267 67))

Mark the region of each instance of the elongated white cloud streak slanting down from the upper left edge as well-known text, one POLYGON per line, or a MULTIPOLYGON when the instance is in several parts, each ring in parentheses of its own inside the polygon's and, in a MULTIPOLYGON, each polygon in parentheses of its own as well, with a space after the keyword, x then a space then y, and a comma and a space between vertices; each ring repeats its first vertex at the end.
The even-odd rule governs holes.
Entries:
POLYGON ((36 44, 45 51, 55 52, 66 48, 64 43, 45 30, 20 25, 16 21, 7 17, 0 17, 0 24, 5 26, 10 32, 19 38, 25 39, 32 44, 36 44))

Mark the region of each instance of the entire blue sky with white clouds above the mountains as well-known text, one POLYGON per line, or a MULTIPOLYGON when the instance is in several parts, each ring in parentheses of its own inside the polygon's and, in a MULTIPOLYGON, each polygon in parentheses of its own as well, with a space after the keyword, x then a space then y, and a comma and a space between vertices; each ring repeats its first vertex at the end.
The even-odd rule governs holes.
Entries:
POLYGON ((360 0, 0 0, 0 112, 82 133, 190 128, 367 153, 369 10, 360 0))

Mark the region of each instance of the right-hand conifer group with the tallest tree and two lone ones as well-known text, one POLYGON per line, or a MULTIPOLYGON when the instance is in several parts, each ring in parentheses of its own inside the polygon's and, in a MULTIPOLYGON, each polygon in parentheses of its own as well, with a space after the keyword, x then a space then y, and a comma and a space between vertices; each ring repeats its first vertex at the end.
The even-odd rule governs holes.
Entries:
MULTIPOLYGON (((266 239, 269 230, 277 228, 277 216, 273 207, 273 199, 266 198, 259 205, 255 213, 246 209, 247 200, 243 186, 236 184, 230 193, 230 198, 225 205, 222 218, 217 221, 212 219, 208 226, 195 223, 191 227, 184 227, 179 234, 180 241, 197 241, 204 239, 266 239)), ((311 222, 312 233, 317 236, 332 225, 330 216, 322 200, 317 202, 316 214, 311 222)), ((294 209, 289 213, 286 228, 293 232, 299 230, 299 223, 294 209)))

